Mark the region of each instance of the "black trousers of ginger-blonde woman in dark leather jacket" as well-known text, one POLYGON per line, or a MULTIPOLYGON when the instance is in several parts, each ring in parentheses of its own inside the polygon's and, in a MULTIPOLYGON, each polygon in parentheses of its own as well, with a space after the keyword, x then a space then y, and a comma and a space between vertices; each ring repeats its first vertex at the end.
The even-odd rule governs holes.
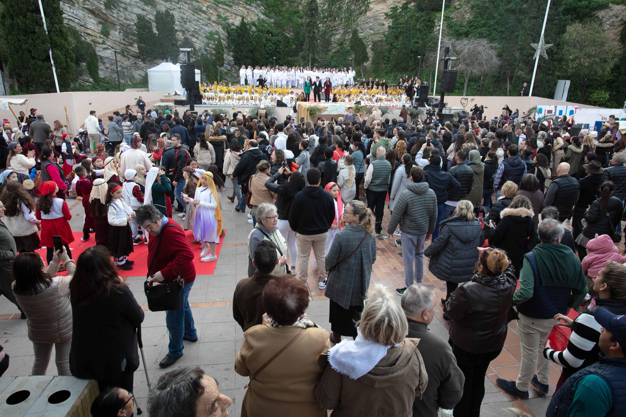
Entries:
POLYGON ((480 416, 480 404, 485 397, 485 374, 493 359, 497 358, 502 349, 488 353, 469 353, 450 342, 456 364, 461 368, 465 383, 463 396, 454 406, 454 417, 480 416))

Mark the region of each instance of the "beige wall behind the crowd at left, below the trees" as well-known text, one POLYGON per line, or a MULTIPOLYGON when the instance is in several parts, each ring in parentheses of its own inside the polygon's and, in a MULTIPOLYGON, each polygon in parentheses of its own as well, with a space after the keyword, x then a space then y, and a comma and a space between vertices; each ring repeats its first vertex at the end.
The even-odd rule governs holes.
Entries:
MULTIPOLYGON (((69 127, 73 133, 76 133, 78 128, 85 123, 91 110, 95 110, 98 116, 123 108, 127 104, 133 106, 133 110, 135 110, 135 103, 140 95, 146 102, 163 98, 163 93, 150 91, 70 91, 67 93, 0 96, 0 101, 26 98, 30 100, 28 109, 26 106, 11 105, 16 115, 19 115, 20 110, 28 115, 29 109, 36 108, 37 113, 42 113, 50 125, 54 120, 59 120, 65 125, 67 121, 64 108, 67 108, 69 127)), ((10 110, 0 109, 0 117, 6 118, 12 126, 16 126, 15 117, 10 110)))

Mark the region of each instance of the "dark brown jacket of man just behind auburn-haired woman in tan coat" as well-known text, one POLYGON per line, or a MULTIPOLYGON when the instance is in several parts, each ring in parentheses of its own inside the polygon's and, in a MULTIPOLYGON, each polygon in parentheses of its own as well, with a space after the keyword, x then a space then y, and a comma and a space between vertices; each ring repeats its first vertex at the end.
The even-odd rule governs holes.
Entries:
POLYGON ((261 294, 272 278, 276 276, 261 274, 257 269, 252 277, 237 282, 233 294, 233 317, 244 332, 263 322, 265 309, 261 302, 261 294))

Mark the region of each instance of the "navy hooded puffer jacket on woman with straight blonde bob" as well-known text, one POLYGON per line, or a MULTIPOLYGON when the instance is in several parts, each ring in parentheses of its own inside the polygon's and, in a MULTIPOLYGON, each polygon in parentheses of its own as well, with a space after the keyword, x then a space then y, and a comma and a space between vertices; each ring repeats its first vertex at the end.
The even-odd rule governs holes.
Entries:
POLYGON ((430 257, 428 270, 443 281, 467 282, 478 260, 476 248, 485 243, 480 222, 454 216, 440 224, 437 239, 424 250, 424 256, 430 257))

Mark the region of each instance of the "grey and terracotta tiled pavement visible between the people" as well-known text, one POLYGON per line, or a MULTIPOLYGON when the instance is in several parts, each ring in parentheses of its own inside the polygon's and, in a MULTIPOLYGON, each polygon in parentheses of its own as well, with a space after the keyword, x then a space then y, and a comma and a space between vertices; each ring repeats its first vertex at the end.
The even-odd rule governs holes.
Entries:
MULTIPOLYGON (((232 190, 232 188, 231 188, 232 190)), ((226 192, 229 189, 227 188, 226 192)), ((233 399, 230 413, 240 415, 241 401, 244 398, 244 385, 248 378, 235 374, 233 362, 235 355, 243 341, 243 332, 232 319, 232 294, 235 284, 247 276, 247 236, 252 225, 246 222, 247 216, 235 212, 234 205, 227 198, 224 203, 223 223, 227 235, 223 240, 223 247, 217 260, 217 267, 213 275, 198 275, 190 294, 193 317, 195 319, 199 341, 185 342, 185 353, 177 366, 200 366, 207 374, 215 377, 220 390, 233 399)), ((70 221, 72 230, 81 230, 83 224, 83 208, 80 201, 68 200, 73 214, 70 221)), ((389 220, 389 210, 385 209, 383 225, 389 220)), ((178 217, 175 219, 179 220, 178 217)), ((384 227, 385 229, 385 227, 384 227)), ((383 229, 383 230, 384 230, 383 229)), ((396 247, 393 238, 378 239, 377 261, 374 264, 372 283, 379 282, 391 291, 404 286, 403 264, 401 249, 396 247)), ((311 268, 313 268, 311 264, 311 268)), ((130 277, 128 284, 141 306, 146 306, 143 294, 143 277, 130 277)), ((424 282, 434 286, 436 299, 445 296, 446 286, 443 281, 436 279, 428 272, 428 259, 424 260, 424 282)), ((324 297, 324 291, 317 289, 317 283, 309 272, 309 288, 311 302, 307 314, 319 326, 328 331, 331 326, 328 321, 329 302, 324 297)), ((158 361, 167 353, 168 335, 165 327, 165 312, 150 312, 145 310, 145 321, 142 324, 144 353, 148 364, 148 376, 151 383, 162 375, 165 370, 158 367, 158 361)), ((442 316, 442 306, 436 307, 436 318, 433 319, 430 329, 434 333, 447 339, 448 322, 442 316)), ((33 363, 33 347, 28 340, 26 321, 19 319, 15 314, 17 309, 4 297, 0 299, 0 344, 11 356, 11 364, 5 376, 29 375, 33 363)), ((511 322, 506 337, 505 348, 498 358, 491 362, 485 378, 485 399, 481 407, 483 416, 501 416, 506 414, 504 408, 515 407, 528 415, 543 415, 548 406, 550 397, 543 397, 535 388, 530 388, 530 399, 519 400, 515 396, 503 393, 496 385, 496 378, 515 379, 520 363, 520 340, 516 333, 516 322, 511 322)), ((54 358, 48 366, 48 374, 57 374, 54 358)), ((560 376, 560 369, 554 364, 550 372, 550 395, 560 376)), ((144 408, 148 387, 143 364, 135 373, 135 396, 141 408, 144 408)))

